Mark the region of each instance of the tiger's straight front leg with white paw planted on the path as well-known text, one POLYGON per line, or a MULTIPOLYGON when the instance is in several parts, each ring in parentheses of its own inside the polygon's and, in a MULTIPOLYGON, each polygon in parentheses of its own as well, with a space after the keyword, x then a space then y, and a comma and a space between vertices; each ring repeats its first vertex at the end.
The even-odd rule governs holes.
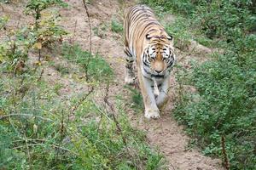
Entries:
POLYGON ((155 103, 153 88, 151 88, 152 80, 149 80, 146 77, 143 77, 142 72, 138 69, 138 79, 143 94, 143 101, 145 106, 145 117, 150 118, 159 118, 160 111, 155 103))

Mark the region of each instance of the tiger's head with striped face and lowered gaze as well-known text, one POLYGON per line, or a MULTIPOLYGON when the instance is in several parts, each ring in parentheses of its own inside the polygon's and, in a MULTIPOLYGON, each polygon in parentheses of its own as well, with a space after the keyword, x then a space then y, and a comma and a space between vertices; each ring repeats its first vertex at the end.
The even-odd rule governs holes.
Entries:
POLYGON ((146 35, 143 50, 143 69, 154 77, 164 77, 171 71, 175 55, 172 36, 146 35))

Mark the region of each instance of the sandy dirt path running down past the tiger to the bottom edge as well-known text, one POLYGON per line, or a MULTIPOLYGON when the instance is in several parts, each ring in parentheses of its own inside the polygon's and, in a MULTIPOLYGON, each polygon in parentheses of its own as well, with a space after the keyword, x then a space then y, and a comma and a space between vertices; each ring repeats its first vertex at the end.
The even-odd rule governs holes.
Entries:
MULTIPOLYGON (((89 49, 89 26, 86 20, 86 14, 82 1, 69 0, 70 8, 63 9, 61 15, 63 18, 62 26, 68 31, 74 32, 75 41, 79 42, 83 48, 89 49)), ((131 1, 126 6, 131 5, 131 1)), ((113 18, 121 19, 122 11, 118 1, 93 1, 88 6, 92 28, 100 29, 101 26, 106 26, 107 31, 102 34, 92 37, 92 51, 104 56, 116 75, 115 86, 111 89, 113 95, 127 92, 124 86, 124 53, 122 46, 122 37, 110 31, 110 24, 113 18)), ((179 54, 182 54, 180 52, 179 54)), ((188 56, 177 55, 177 62, 184 62, 188 56), (183 58, 183 59, 181 59, 183 58)), ((184 62, 185 64, 185 62, 184 62)), ((175 79, 172 77, 172 85, 175 86, 175 79)), ((175 93, 170 93, 170 102, 166 110, 161 114, 159 120, 146 121, 143 113, 130 113, 131 122, 134 127, 146 131, 149 143, 158 147, 166 156, 169 169, 197 169, 197 170, 213 170, 223 169, 220 165, 220 160, 214 160, 210 157, 203 156, 198 150, 187 149, 189 138, 183 131, 182 126, 178 126, 177 122, 172 117, 172 101, 175 93)))

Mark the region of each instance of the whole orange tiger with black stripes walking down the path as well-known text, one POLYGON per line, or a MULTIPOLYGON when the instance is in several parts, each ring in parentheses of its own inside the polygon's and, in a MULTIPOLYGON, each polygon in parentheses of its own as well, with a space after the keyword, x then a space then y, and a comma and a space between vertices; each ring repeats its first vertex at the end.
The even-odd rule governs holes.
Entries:
POLYGON ((173 37, 168 35, 154 12, 146 5, 131 7, 124 20, 125 83, 137 79, 143 95, 144 116, 160 117, 170 86, 170 72, 175 62, 173 37))

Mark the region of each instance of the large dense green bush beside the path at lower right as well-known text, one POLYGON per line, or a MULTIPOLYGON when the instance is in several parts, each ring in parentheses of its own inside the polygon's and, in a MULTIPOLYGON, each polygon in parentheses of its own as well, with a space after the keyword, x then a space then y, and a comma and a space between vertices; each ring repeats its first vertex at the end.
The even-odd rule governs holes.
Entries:
MULTIPOLYGON (((248 37, 246 41, 252 41, 250 38, 256 40, 248 37)), ((253 50, 252 44, 247 43, 247 48, 253 50)), ((254 169, 255 56, 249 52, 244 58, 236 53, 216 57, 195 66, 189 79, 200 97, 184 97, 175 115, 189 127, 189 133, 205 148, 205 154, 222 156, 224 136, 231 167, 254 169)))

